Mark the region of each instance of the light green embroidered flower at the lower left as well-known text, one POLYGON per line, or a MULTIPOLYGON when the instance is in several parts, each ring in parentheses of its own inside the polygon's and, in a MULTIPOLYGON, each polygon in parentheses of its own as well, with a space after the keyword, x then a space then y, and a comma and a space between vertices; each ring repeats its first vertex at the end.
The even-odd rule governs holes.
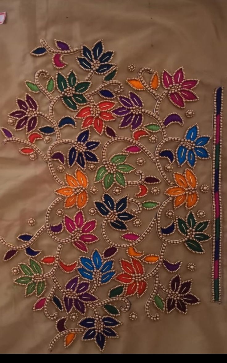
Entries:
POLYGON ((43 269, 37 261, 30 258, 28 264, 19 264, 22 276, 14 280, 17 285, 25 285, 25 296, 30 296, 36 292, 36 296, 40 296, 46 289, 46 280, 44 278, 43 269))

